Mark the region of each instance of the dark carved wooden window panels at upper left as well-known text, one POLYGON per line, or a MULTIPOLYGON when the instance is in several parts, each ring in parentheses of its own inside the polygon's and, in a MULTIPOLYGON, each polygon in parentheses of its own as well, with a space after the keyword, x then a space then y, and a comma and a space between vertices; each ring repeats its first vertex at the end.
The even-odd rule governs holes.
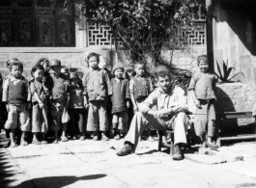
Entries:
POLYGON ((64 0, 0 0, 0 46, 74 46, 74 7, 64 0))

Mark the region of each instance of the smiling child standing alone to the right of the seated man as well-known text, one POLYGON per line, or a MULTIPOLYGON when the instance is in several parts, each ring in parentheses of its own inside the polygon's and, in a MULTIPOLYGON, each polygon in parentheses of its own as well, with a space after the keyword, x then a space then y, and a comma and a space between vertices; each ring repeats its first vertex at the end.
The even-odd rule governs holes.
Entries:
POLYGON ((194 128, 197 136, 200 137, 203 147, 217 148, 213 143, 215 136, 215 110, 213 102, 215 97, 216 75, 209 72, 209 61, 206 55, 201 55, 197 59, 200 72, 196 72, 191 80, 188 90, 196 105, 196 114, 206 114, 195 116, 194 128), (207 132, 207 141, 206 141, 207 132))

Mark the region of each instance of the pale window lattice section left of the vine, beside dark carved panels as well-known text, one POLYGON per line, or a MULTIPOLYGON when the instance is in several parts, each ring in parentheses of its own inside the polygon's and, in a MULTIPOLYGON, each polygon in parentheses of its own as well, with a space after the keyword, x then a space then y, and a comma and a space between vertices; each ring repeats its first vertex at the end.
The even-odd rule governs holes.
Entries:
POLYGON ((111 28, 100 23, 88 22, 88 44, 94 45, 111 45, 111 28))

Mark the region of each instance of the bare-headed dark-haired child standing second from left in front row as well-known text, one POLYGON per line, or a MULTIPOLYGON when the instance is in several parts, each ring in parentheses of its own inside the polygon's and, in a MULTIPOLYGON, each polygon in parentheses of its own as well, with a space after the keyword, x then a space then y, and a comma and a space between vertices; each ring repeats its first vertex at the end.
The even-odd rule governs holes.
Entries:
POLYGON ((30 81, 32 94, 32 132, 34 138, 32 144, 45 145, 47 141, 45 135, 48 131, 47 99, 49 91, 45 86, 44 68, 41 65, 32 67, 31 74, 33 80, 30 81), (39 141, 39 133, 42 134, 42 141, 39 141))

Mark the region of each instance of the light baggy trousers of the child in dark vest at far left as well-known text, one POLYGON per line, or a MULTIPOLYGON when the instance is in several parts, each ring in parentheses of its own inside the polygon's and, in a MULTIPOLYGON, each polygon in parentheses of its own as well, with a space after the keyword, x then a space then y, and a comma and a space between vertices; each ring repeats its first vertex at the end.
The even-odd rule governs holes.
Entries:
POLYGON ((7 112, 6 129, 14 129, 18 126, 23 132, 30 131, 30 118, 26 103, 9 104, 7 112))

